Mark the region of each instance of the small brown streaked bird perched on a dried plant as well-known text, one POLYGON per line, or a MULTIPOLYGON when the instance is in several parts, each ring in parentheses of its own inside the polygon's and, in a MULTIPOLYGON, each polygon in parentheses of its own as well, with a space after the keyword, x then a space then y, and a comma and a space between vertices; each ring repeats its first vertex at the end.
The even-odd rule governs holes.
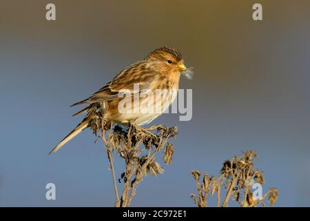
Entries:
MULTIPOLYGON (((99 117, 99 111, 102 111, 102 107, 105 107, 103 117, 112 122, 130 122, 131 124, 138 126, 152 122, 152 120, 161 115, 165 109, 174 102, 174 99, 176 99, 178 82, 181 74, 185 75, 187 78, 191 78, 192 70, 185 67, 182 55, 178 50, 163 47, 150 52, 145 59, 137 61, 122 70, 121 73, 118 73, 112 81, 105 84, 103 88, 99 89, 92 96, 72 105, 87 105, 73 116, 81 113, 87 114, 82 122, 63 140, 61 140, 61 142, 59 142, 50 153, 55 153, 61 148, 61 146, 70 141, 85 128, 92 126, 92 122, 99 117), (134 84, 138 84, 138 91, 135 90, 134 84), (155 91, 158 89, 167 89, 169 92, 174 91, 176 93, 168 93, 158 101, 158 98, 155 96, 155 91), (149 104, 149 99, 152 99, 151 104, 156 102, 157 104, 154 104, 153 106, 150 105, 152 106, 153 111, 147 113, 142 113, 141 111, 124 113, 123 111, 119 111, 119 103, 121 102, 121 99, 123 99, 123 96, 120 96, 119 93, 123 90, 130 91, 132 95, 141 95, 145 90, 153 93, 152 96, 138 97, 139 107, 149 104), (159 106, 161 106, 160 111, 154 111, 154 106, 158 105, 158 102, 159 106)), ((132 104, 136 103, 132 102, 132 104)), ((150 106, 147 106, 147 108, 150 108, 150 106)), ((138 110, 140 110, 140 108, 138 108, 138 110)))

